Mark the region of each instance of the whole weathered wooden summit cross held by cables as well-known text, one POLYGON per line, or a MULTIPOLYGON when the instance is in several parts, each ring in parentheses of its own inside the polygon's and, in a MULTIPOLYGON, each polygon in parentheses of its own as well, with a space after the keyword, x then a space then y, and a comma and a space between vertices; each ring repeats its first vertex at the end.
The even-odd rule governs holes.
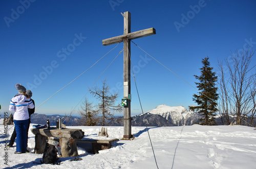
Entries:
POLYGON ((123 98, 127 99, 127 106, 123 108, 123 139, 130 139, 132 135, 131 118, 131 40, 156 34, 154 28, 148 28, 131 33, 131 13, 124 12, 123 35, 102 40, 102 45, 110 45, 123 41, 123 98))

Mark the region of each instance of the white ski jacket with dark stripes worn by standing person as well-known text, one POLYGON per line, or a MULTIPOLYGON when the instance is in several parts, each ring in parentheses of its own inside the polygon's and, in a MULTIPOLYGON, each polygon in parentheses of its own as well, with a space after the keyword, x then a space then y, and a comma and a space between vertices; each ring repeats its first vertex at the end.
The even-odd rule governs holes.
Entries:
POLYGON ((28 108, 33 109, 35 106, 31 99, 22 93, 18 93, 12 98, 9 106, 10 111, 14 111, 13 119, 25 120, 29 119, 28 108))

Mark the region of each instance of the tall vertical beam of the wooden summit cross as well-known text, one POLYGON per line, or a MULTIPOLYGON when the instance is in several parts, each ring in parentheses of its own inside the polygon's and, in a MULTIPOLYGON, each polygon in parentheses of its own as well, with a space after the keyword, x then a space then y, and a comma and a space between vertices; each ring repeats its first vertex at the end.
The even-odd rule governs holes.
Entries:
MULTIPOLYGON (((131 13, 124 12, 123 15, 123 34, 131 33, 131 13)), ((123 98, 128 98, 131 94, 131 40, 124 38, 123 41, 123 98)), ((132 120, 131 120, 131 100, 123 108, 123 139, 132 138, 132 120)))

